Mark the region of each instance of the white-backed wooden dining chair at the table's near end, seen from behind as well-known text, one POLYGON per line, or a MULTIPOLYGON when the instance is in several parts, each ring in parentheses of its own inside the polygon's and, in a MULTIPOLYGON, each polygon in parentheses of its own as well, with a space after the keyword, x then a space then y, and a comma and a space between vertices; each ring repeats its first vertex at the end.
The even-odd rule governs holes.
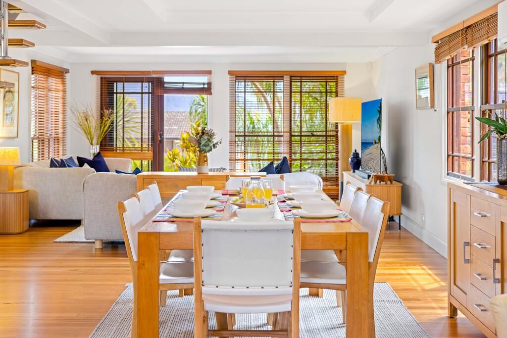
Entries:
POLYGON ((299 337, 300 222, 195 220, 195 337, 299 337), (231 313, 278 315, 274 330, 210 330, 209 311, 217 324, 231 313))

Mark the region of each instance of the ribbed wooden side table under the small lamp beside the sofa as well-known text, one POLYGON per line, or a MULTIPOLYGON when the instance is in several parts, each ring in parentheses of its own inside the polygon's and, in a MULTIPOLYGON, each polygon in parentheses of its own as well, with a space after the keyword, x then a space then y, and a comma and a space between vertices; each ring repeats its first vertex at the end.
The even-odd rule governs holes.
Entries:
POLYGON ((28 190, 0 192, 0 234, 21 234, 28 230, 28 190))

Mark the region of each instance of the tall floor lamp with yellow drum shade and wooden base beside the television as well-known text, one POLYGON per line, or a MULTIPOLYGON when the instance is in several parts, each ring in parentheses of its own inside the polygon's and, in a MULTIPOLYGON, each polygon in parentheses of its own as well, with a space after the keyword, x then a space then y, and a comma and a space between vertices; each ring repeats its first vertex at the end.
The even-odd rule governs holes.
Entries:
POLYGON ((329 122, 340 124, 338 172, 341 197, 343 172, 350 169, 348 159, 352 153, 352 123, 361 122, 361 99, 357 97, 331 98, 329 100, 329 122))

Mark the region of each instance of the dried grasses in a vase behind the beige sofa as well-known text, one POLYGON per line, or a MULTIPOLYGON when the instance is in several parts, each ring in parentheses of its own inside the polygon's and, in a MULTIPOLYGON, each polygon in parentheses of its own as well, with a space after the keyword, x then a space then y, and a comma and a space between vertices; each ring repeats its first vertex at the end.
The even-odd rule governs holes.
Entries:
POLYGON ((100 141, 111 129, 115 114, 113 109, 102 109, 100 117, 95 116, 91 107, 70 107, 78 130, 90 143, 90 158, 99 152, 100 141))

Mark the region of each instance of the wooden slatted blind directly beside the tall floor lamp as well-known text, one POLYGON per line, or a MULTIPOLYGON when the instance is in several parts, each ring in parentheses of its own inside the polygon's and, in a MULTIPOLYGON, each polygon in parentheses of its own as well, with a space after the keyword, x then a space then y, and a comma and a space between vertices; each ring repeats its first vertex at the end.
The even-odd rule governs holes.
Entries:
POLYGON ((338 124, 328 119, 329 99, 344 96, 343 76, 291 77, 290 148, 293 171, 319 175, 325 187, 340 185, 338 124))

